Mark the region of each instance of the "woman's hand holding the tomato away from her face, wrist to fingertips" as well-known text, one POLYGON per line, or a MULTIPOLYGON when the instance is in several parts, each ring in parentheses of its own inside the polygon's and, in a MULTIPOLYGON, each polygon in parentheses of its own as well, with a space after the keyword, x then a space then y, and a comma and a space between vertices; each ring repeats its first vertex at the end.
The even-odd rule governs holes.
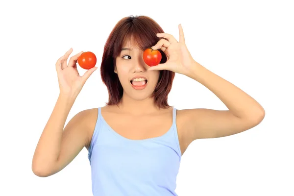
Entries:
POLYGON ((67 65, 67 59, 69 58, 72 52, 73 49, 71 48, 57 60, 56 72, 58 76, 60 94, 71 97, 77 97, 87 79, 98 68, 91 68, 87 70, 87 72, 84 73, 84 75, 80 76, 76 68, 76 62, 78 57, 83 53, 83 51, 72 56, 70 58, 69 64, 67 65))

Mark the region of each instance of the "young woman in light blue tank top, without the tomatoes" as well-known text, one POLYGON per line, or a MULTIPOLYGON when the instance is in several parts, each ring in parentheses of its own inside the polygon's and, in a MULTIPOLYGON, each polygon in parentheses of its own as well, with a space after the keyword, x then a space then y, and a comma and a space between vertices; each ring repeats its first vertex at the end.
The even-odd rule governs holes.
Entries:
POLYGON ((240 133, 259 124, 263 107, 245 92, 197 63, 185 45, 146 16, 123 18, 105 44, 101 77, 109 92, 104 107, 76 114, 64 128, 86 80, 76 69, 82 52, 58 59, 60 94, 32 160, 38 176, 65 168, 86 147, 94 196, 176 196, 176 176, 186 148, 196 139, 240 133), (161 64, 143 60, 148 47, 160 49, 161 64), (168 104, 174 73, 195 79, 228 110, 176 110, 168 104))

